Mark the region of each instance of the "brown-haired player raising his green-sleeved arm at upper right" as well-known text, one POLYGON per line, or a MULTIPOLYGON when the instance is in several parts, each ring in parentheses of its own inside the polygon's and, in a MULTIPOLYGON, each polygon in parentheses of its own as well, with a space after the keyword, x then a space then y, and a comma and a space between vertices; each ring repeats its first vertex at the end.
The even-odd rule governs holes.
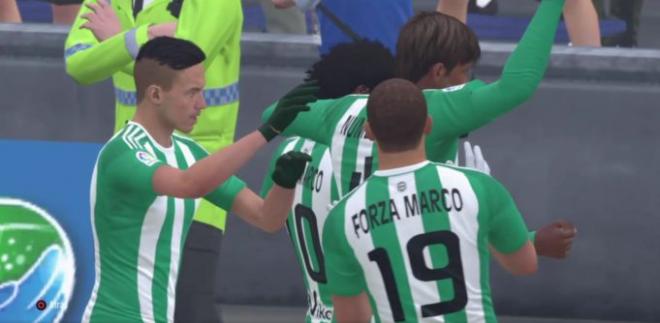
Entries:
MULTIPOLYGON (((440 13, 422 13, 404 26, 397 45, 397 73, 426 89, 429 115, 436 120, 426 139, 430 160, 456 160, 460 136, 531 97, 548 64, 563 4, 563 0, 541 2, 502 76, 491 84, 468 82, 480 48, 474 33, 463 23, 440 13)), ((319 100, 284 132, 330 147, 340 196, 378 167, 376 146, 363 131, 367 99, 365 94, 319 100)), ((264 116, 270 111, 272 108, 264 116)), ((530 238, 539 254, 564 258, 575 233, 572 224, 558 221, 532 232, 530 238)))

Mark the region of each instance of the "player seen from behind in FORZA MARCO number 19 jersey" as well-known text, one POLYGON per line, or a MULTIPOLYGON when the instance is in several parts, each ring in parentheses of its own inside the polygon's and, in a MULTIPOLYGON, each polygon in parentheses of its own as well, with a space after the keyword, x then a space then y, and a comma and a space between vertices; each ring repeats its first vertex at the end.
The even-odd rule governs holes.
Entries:
POLYGON ((369 322, 372 312, 376 322, 495 322, 490 254, 512 274, 537 269, 511 196, 488 175, 426 159, 433 125, 415 84, 378 85, 366 117, 378 170, 323 232, 337 322, 369 322))

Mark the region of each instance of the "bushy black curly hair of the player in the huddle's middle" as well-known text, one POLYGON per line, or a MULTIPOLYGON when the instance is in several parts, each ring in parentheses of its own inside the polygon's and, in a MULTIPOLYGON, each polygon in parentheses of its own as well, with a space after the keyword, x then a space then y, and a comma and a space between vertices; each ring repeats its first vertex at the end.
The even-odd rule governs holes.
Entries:
POLYGON ((392 77, 394 56, 387 47, 360 40, 339 44, 322 55, 307 70, 306 81, 318 81, 319 99, 336 99, 353 93, 360 85, 373 89, 392 77))

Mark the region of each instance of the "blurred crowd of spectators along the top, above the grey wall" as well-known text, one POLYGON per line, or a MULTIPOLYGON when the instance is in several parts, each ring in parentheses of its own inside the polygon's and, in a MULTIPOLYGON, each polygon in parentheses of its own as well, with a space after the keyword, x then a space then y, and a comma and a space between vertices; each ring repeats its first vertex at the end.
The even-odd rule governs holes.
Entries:
MULTIPOLYGON (((374 0, 375 1, 375 0, 374 0)), ((434 10, 453 15, 467 23, 480 39, 517 41, 527 25, 537 0, 397 0, 381 6, 412 5, 414 11, 434 10), (400 3, 407 3, 400 5, 400 3), (396 4, 392 4, 396 3, 396 4)), ((0 0, 0 22, 71 24, 83 0, 0 0)), ((284 34, 321 34, 319 20, 333 16, 332 24, 344 24, 351 32, 354 23, 370 23, 373 17, 356 21, 347 15, 345 0, 243 0, 244 30, 284 34), (304 3, 305 5, 301 5, 304 3), (313 4, 309 4, 313 3, 313 4), (320 18, 320 19, 319 19, 320 18), (366 22, 365 22, 366 21, 366 22)), ((356 1, 356 8, 358 2, 356 1)), ((657 1, 660 2, 660 1, 657 1)), ((364 5, 362 5, 364 7, 364 5)), ((359 9, 355 9, 359 10, 359 9)), ((660 3, 644 0, 572 0, 564 10, 565 25, 558 42, 574 46, 660 47, 653 37, 646 41, 640 30, 660 25, 660 3)), ((327 18, 326 18, 327 19, 327 18)), ((378 24, 379 22, 375 22, 378 24)), ((345 28, 340 28, 346 32, 345 28)), ((359 29, 359 28, 358 28, 359 29)), ((360 34, 360 31, 357 31, 360 34)), ((657 37, 656 37, 657 38, 657 37)), ((322 49, 322 52, 324 50, 322 49)))

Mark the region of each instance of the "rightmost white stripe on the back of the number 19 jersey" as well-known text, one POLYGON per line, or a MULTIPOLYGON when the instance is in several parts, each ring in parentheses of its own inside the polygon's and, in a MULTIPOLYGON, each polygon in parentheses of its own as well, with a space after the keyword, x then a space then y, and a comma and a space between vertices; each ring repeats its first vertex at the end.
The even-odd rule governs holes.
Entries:
POLYGON ((448 213, 451 231, 458 235, 461 246, 461 262, 468 294, 465 314, 468 322, 485 322, 481 294, 481 262, 477 241, 479 202, 470 182, 463 173, 443 166, 438 166, 437 169, 442 187, 449 190, 456 188, 463 197, 463 209, 457 212, 455 208, 452 208, 448 213))

